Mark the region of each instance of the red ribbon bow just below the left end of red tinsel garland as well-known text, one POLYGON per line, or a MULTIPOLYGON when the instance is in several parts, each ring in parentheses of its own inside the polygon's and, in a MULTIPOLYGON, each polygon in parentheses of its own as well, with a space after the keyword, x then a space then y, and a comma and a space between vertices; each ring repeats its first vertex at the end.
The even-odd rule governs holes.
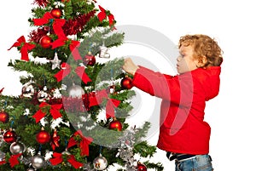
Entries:
POLYGON ((43 108, 45 107, 50 107, 49 109, 49 113, 51 114, 51 116, 54 118, 54 119, 57 119, 59 117, 62 117, 61 116, 61 113, 60 113, 60 109, 62 107, 62 104, 57 104, 57 105, 49 105, 48 103, 46 102, 42 102, 39 107, 41 109, 39 109, 32 117, 34 117, 36 119, 36 123, 38 123, 45 115, 46 113, 44 113, 43 111, 43 108))

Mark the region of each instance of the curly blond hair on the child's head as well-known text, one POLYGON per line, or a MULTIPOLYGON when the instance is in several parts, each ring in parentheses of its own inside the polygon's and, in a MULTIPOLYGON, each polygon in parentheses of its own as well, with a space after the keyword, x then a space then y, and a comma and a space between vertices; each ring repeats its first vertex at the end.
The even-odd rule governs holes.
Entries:
POLYGON ((195 34, 180 37, 178 48, 191 45, 194 48, 195 58, 201 60, 206 57, 207 62, 201 67, 220 66, 223 61, 223 51, 218 43, 207 35, 195 34))

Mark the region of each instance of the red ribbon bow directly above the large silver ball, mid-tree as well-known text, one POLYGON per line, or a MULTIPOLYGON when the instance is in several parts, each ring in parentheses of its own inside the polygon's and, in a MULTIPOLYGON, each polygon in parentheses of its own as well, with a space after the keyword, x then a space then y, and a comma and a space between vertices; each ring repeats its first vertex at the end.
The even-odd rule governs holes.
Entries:
MULTIPOLYGON (((61 71, 55 74, 55 77, 57 78, 57 82, 60 82, 64 77, 67 77, 67 75, 71 71, 71 67, 65 62, 61 64, 61 69, 62 69, 61 71)), ((75 72, 81 78, 81 80, 83 80, 84 83, 91 82, 90 77, 87 76, 84 70, 85 70, 84 66, 78 66, 75 69, 75 72)))

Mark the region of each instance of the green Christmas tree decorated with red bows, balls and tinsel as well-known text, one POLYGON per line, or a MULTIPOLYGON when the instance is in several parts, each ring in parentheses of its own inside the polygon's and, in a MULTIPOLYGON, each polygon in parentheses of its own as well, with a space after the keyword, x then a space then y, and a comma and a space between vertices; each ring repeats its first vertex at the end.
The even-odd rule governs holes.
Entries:
POLYGON ((108 54, 125 37, 113 14, 92 0, 35 0, 28 22, 33 30, 9 48, 21 54, 9 67, 26 71, 21 93, 0 92, 0 169, 162 170, 134 158, 156 148, 143 140, 149 123, 125 123, 136 94, 123 59, 108 54))

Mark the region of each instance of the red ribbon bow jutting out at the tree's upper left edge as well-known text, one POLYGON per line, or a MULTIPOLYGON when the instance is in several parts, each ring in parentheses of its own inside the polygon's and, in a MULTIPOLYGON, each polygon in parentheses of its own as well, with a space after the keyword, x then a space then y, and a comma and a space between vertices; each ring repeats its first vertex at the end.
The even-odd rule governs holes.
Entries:
MULTIPOLYGON (((27 51, 32 50, 33 48, 35 48, 36 45, 32 44, 32 43, 26 43, 25 37, 21 36, 20 38, 17 39, 17 42, 15 42, 11 48, 19 47, 21 45, 22 45, 22 47, 20 48, 21 60, 28 61, 29 59, 28 59, 28 52, 27 51)), ((10 50, 11 48, 9 48, 8 50, 10 50)))

